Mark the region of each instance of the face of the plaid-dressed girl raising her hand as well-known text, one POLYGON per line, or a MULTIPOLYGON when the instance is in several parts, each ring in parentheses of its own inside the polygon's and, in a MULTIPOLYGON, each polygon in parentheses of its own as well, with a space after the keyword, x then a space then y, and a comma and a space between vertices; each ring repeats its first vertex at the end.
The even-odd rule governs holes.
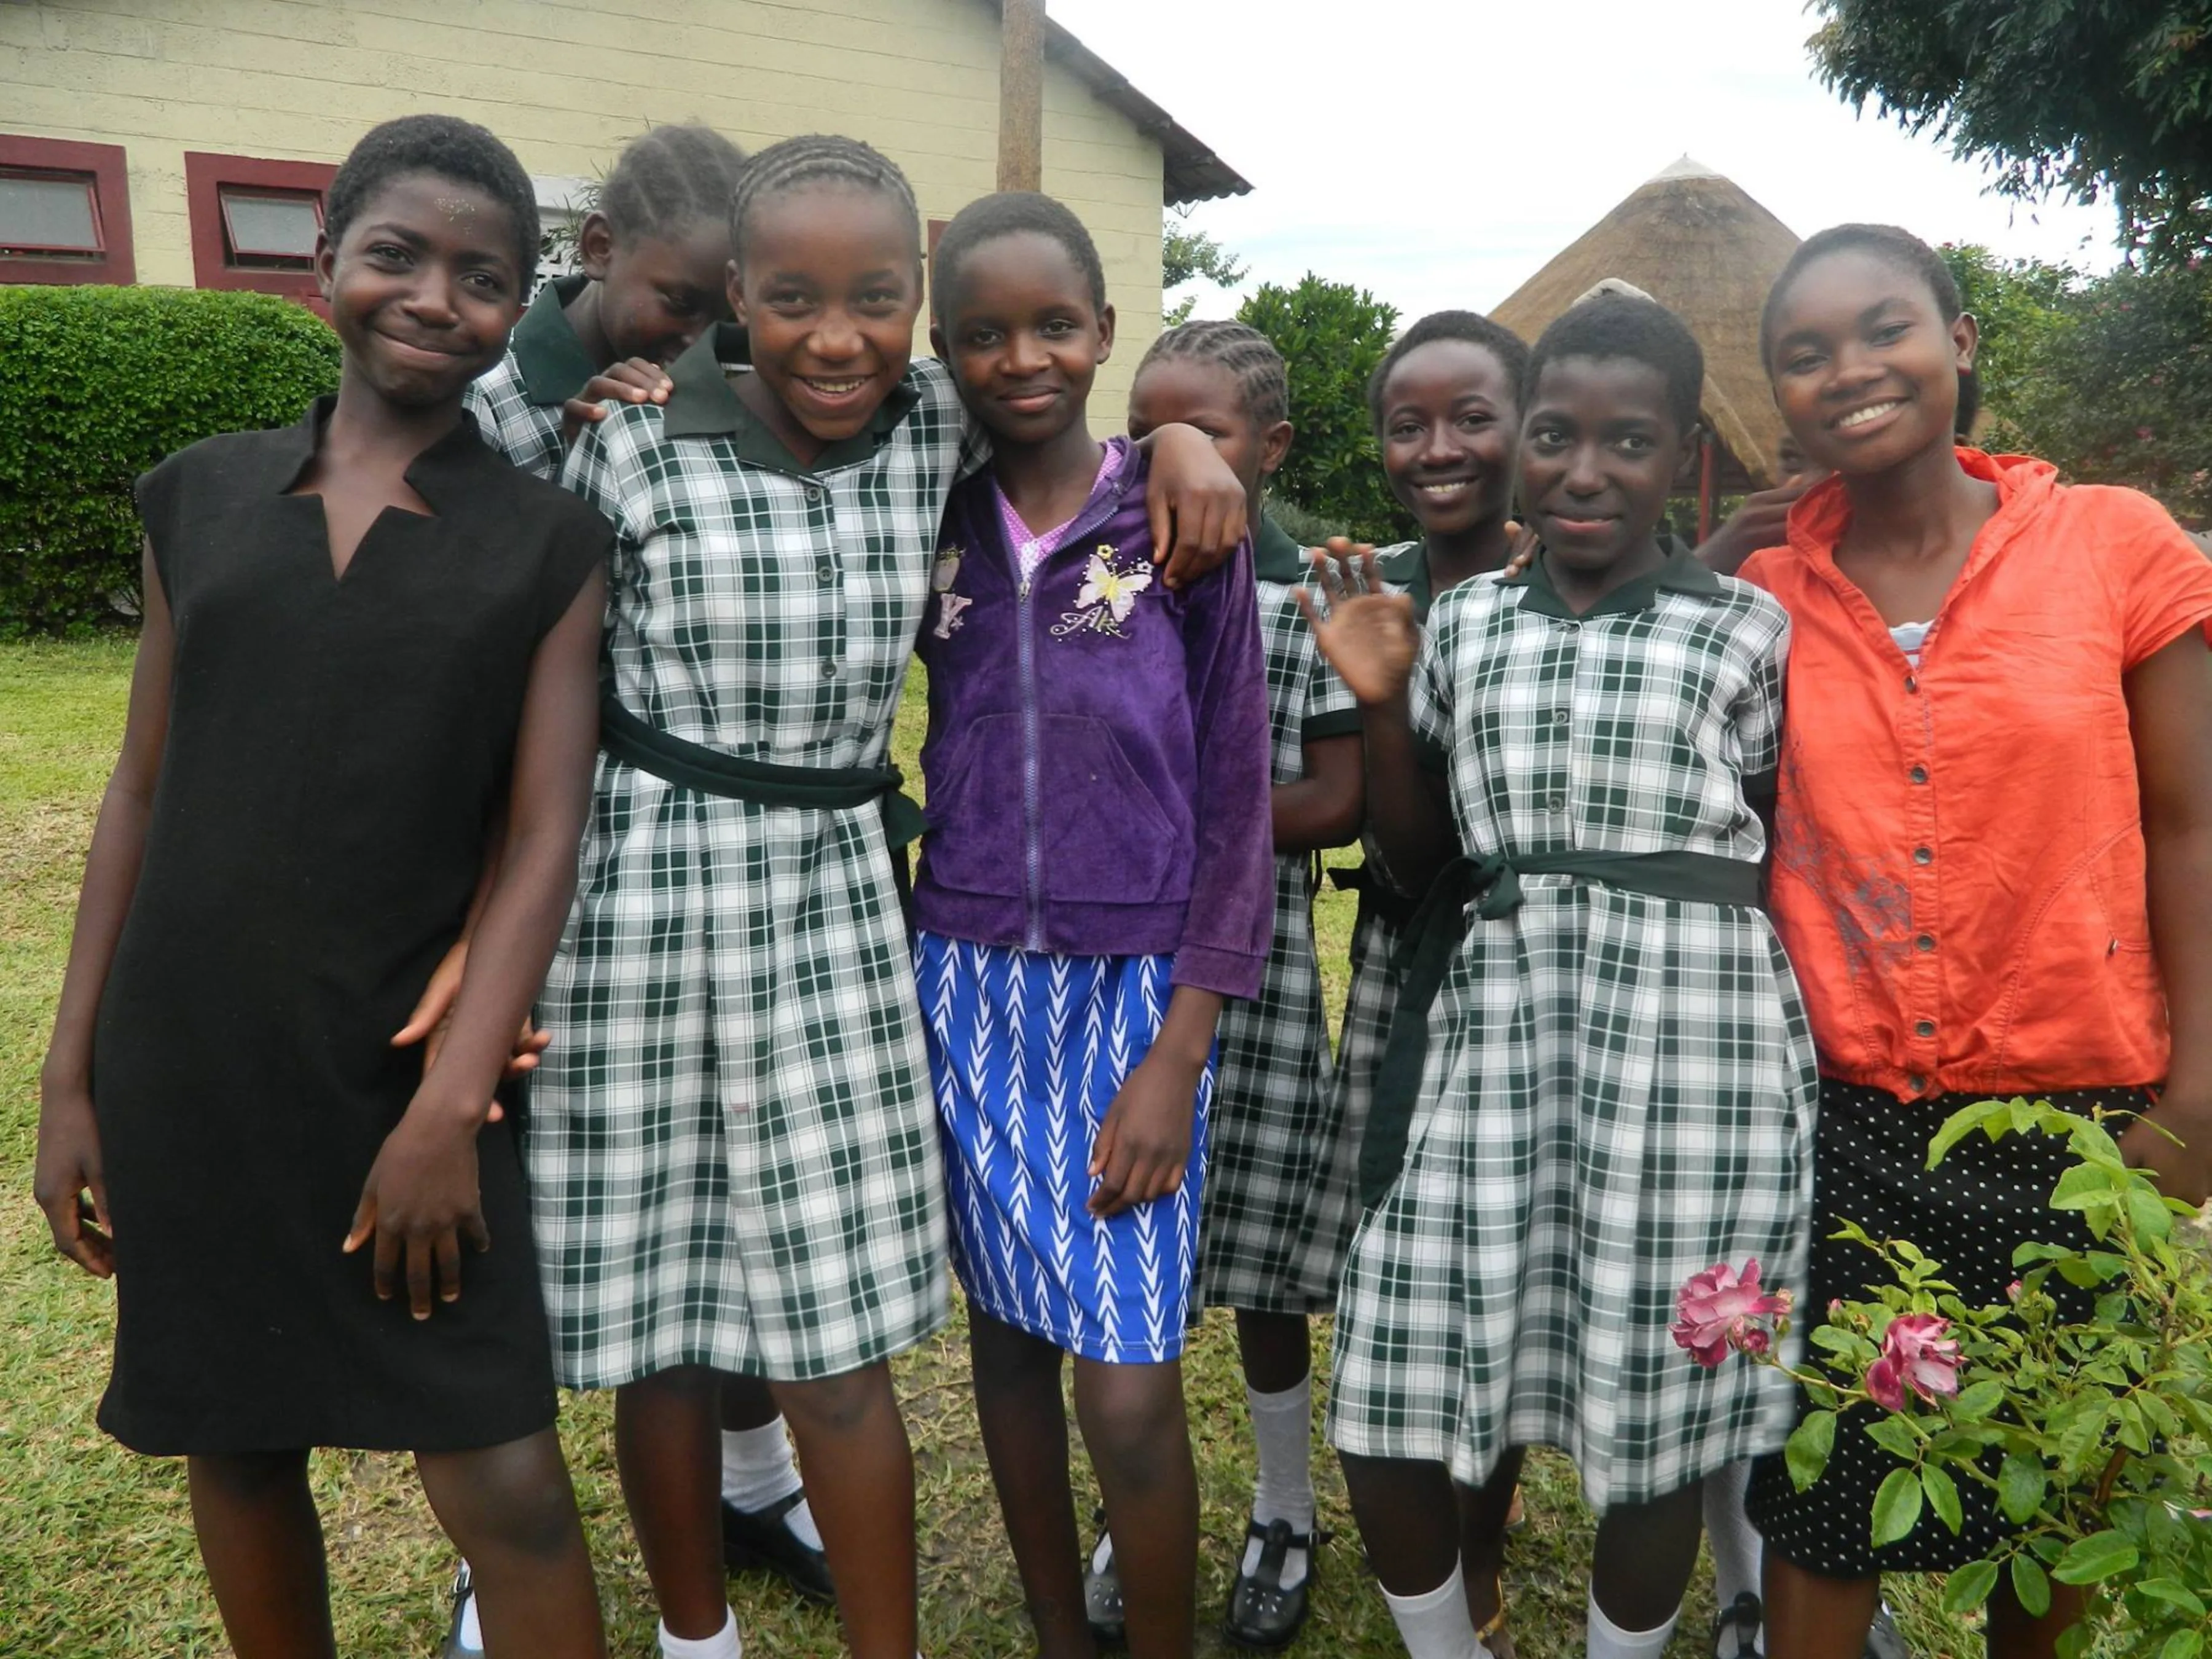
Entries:
POLYGON ((1551 560, 1597 577, 1650 549, 1697 431, 1668 405, 1666 374, 1637 358, 1544 365, 1522 420, 1522 504, 1551 560))

